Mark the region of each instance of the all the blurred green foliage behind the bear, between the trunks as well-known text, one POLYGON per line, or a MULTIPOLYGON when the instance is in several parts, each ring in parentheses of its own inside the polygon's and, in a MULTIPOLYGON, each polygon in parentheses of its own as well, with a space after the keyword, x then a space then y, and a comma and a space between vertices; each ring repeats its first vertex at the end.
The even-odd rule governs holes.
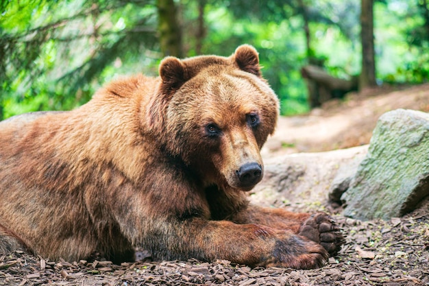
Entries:
MULTIPOLYGON (((339 78, 360 73, 359 1, 175 3, 180 7, 185 56, 229 56, 238 45, 254 45, 284 115, 308 111, 299 73, 308 56, 339 78), (201 3, 202 39, 196 25, 201 3), (202 43, 198 49, 197 43, 202 43)), ((380 82, 428 81, 429 19, 424 3, 376 1, 380 82)), ((156 75, 162 53, 155 4, 155 0, 0 1, 0 119, 27 111, 75 108, 117 75, 156 75)))

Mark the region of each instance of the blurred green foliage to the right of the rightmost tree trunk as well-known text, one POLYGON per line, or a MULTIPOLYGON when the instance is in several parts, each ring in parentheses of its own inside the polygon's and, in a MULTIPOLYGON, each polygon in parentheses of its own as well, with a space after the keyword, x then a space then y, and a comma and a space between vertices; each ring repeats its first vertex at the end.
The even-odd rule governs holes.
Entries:
POLYGON ((376 47, 382 46, 377 49, 379 78, 385 82, 429 80, 429 7, 424 10, 422 3, 391 0, 376 5, 376 47))

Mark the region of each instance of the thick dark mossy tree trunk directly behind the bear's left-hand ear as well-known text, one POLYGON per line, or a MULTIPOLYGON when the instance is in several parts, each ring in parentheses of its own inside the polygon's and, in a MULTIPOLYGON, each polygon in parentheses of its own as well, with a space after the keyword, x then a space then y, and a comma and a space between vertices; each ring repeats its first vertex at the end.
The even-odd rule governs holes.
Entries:
POLYGON ((177 20, 177 7, 173 0, 157 0, 158 33, 164 56, 182 58, 182 29, 177 20))

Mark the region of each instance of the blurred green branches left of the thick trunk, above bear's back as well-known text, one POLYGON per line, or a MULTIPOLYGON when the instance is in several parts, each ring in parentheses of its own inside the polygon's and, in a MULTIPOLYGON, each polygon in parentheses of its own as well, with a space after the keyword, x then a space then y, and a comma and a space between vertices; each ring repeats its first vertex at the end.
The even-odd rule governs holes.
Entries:
POLYGON ((0 115, 73 108, 112 64, 130 69, 146 60, 142 53, 150 58, 158 46, 153 2, 2 1, 0 115))

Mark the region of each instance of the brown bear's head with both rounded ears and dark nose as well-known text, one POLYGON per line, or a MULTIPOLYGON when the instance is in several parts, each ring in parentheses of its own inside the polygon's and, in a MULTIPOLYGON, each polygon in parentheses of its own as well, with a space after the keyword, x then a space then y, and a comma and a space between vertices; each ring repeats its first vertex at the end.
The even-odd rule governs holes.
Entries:
POLYGON ((164 58, 148 117, 160 146, 203 182, 249 191, 262 179, 260 148, 278 109, 258 52, 241 45, 229 58, 164 58))

